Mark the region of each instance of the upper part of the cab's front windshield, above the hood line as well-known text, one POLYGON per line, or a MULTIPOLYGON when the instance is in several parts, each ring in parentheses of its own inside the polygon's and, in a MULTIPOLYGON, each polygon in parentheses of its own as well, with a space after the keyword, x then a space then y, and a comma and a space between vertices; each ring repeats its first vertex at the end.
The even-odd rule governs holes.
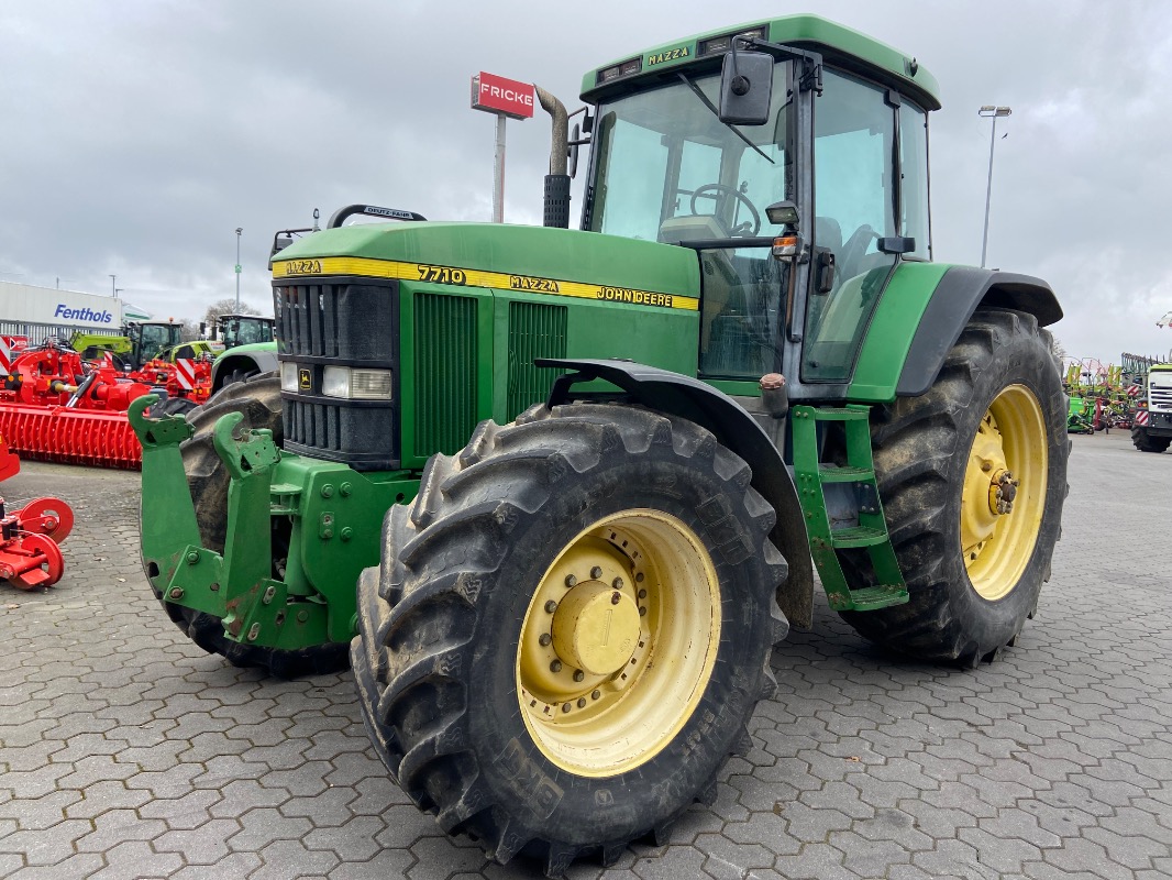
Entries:
POLYGON ((660 242, 776 232, 765 208, 789 196, 792 174, 786 69, 774 68, 770 121, 737 127, 757 149, 695 94, 715 106, 718 73, 601 104, 588 229, 660 242))

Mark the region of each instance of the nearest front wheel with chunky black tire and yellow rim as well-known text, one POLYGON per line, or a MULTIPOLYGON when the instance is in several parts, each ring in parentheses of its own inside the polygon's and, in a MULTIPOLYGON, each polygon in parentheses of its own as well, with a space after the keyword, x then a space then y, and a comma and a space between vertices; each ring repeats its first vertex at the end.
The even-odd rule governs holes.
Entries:
POLYGON ((403 791, 551 876, 710 803, 785 630, 749 479, 707 431, 627 406, 533 407, 434 456, 387 515, 352 648, 403 791))

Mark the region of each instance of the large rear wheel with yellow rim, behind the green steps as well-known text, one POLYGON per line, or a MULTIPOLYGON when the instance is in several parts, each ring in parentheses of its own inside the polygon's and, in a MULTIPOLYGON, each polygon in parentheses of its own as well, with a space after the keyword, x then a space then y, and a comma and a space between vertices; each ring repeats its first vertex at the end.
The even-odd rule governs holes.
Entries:
MULTIPOLYGON (((877 414, 875 474, 911 600, 844 612, 866 638, 973 666, 1013 645, 1034 616, 1061 532, 1070 448, 1050 351, 1033 316, 977 311, 932 388, 877 414), (1020 486, 1001 483, 1006 473, 1020 486), (1008 512, 995 509, 999 487, 1008 512)), ((847 577, 868 585, 858 568, 847 577)))

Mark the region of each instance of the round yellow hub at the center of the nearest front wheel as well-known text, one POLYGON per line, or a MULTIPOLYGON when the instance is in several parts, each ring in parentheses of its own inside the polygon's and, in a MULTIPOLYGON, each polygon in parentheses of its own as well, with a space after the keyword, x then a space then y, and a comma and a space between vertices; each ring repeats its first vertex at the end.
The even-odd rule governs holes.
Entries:
MULTIPOLYGON (((615 582, 621 587, 619 578, 615 582)), ((564 663, 593 676, 614 675, 639 642, 639 607, 613 584, 586 581, 558 604, 552 635, 564 663)))

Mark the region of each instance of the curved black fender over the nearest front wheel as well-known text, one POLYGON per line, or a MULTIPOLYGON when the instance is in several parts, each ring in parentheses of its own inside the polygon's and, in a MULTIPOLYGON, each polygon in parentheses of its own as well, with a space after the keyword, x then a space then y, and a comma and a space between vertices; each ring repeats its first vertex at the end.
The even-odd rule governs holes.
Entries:
POLYGON ((752 469, 752 487, 777 512, 770 540, 789 563, 789 578, 777 591, 777 604, 792 625, 809 628, 813 616, 813 563, 793 478, 781 453, 752 415, 721 391, 699 379, 626 360, 541 358, 539 367, 573 370, 550 390, 550 407, 590 397, 571 394, 574 385, 601 379, 624 391, 632 402, 703 426, 752 469))

